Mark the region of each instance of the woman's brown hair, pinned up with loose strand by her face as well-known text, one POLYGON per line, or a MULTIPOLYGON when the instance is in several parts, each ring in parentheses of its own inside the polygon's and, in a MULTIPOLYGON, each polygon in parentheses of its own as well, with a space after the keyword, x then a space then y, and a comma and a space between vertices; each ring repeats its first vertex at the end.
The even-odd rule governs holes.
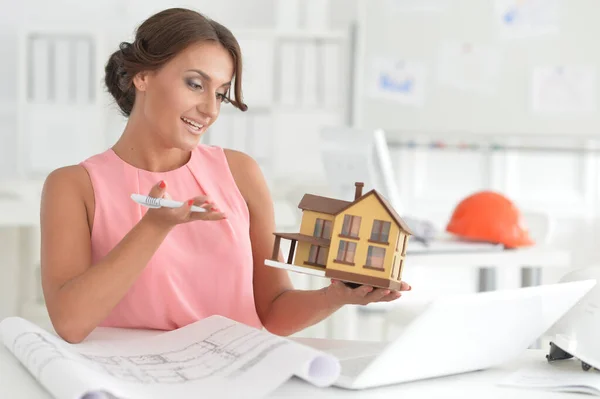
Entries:
POLYGON ((136 31, 133 43, 123 42, 105 67, 104 83, 125 116, 135 101, 133 77, 142 71, 157 70, 180 51, 197 42, 211 40, 221 44, 233 58, 235 107, 246 111, 242 99, 242 56, 239 43, 229 29, 185 8, 170 8, 154 14, 136 31))

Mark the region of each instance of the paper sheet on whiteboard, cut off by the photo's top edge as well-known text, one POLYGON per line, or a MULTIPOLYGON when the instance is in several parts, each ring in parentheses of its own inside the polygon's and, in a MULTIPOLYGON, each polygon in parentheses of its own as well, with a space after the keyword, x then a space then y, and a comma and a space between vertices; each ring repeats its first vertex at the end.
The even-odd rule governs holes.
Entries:
POLYGON ((502 39, 559 32, 559 0, 495 0, 494 14, 502 39))

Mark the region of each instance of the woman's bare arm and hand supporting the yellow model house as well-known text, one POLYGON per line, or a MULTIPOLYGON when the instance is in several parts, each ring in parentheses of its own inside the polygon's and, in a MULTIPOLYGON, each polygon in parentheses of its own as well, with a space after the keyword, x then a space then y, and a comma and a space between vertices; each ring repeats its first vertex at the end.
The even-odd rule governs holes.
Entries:
MULTIPOLYGON (((390 301, 400 293, 361 286, 351 289, 333 282, 320 290, 295 290, 287 271, 264 264, 273 252, 273 201, 262 172, 249 156, 226 150, 230 168, 250 210, 250 238, 254 258, 254 296, 258 315, 267 330, 291 335, 327 318, 345 304, 390 301)), ((283 258, 280 254, 280 260, 283 258)), ((404 289, 408 289, 405 284, 404 289)))

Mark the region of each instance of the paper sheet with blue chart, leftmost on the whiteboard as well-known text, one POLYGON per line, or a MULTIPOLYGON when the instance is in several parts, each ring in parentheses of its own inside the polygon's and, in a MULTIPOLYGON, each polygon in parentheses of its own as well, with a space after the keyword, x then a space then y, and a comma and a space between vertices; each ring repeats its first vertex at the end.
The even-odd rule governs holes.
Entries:
POLYGON ((374 58, 367 76, 369 96, 422 107, 426 74, 425 65, 419 61, 374 58))

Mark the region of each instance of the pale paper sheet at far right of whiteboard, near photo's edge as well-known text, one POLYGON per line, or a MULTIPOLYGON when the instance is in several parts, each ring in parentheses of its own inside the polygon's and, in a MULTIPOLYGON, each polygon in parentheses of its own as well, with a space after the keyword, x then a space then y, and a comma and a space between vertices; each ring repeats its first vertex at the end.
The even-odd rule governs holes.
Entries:
POLYGON ((537 67, 532 79, 532 108, 539 114, 589 114, 596 109, 596 72, 588 66, 537 67))

